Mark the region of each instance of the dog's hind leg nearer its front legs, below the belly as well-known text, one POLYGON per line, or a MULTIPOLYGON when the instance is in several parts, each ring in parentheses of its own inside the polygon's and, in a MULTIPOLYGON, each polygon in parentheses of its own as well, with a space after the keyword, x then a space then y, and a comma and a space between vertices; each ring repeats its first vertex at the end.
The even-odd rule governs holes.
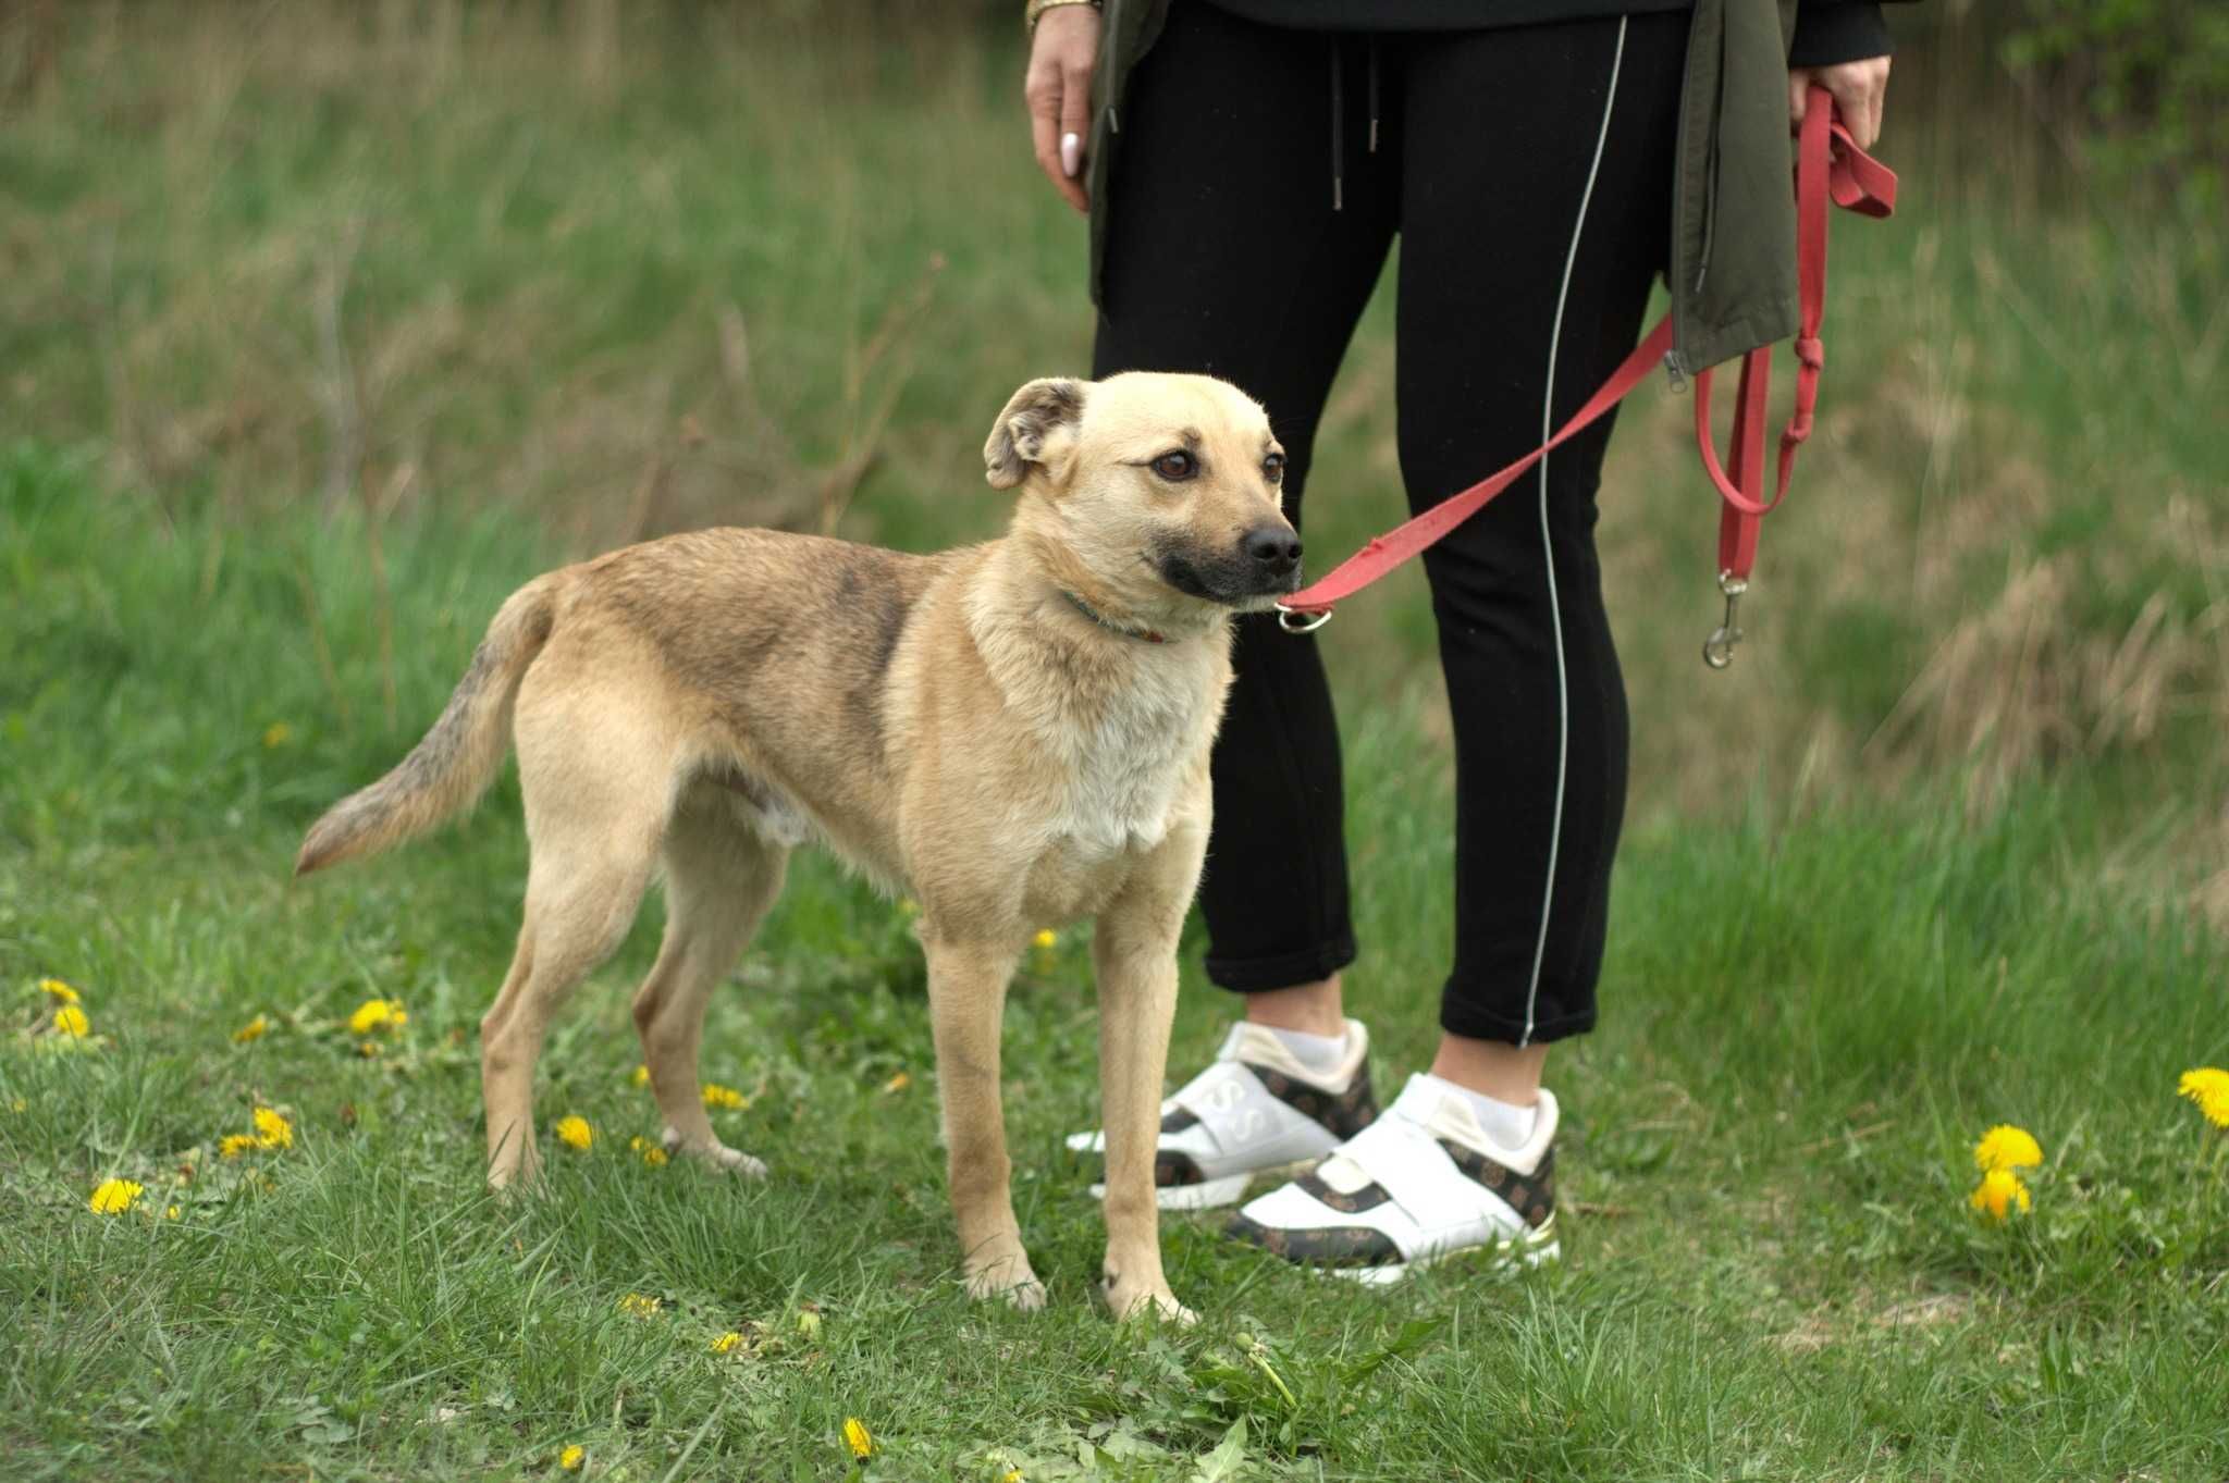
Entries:
POLYGON ((669 1151, 762 1176, 767 1165, 713 1133, 698 1084, 704 1006, 782 891, 789 851, 736 817, 724 797, 687 799, 666 826, 666 937, 635 991, 635 1031, 669 1151))

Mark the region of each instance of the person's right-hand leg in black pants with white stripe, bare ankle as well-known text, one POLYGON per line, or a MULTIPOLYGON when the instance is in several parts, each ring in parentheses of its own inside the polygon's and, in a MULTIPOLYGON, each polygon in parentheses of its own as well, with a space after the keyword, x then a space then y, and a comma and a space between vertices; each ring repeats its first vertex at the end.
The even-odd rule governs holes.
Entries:
MULTIPOLYGON (((1545 441, 1638 338, 1672 218, 1685 31, 1634 16, 1413 53, 1398 401, 1415 508, 1545 441)), ((1542 1047, 1594 1027, 1625 811, 1625 684, 1594 552, 1609 428, 1424 557, 1456 733, 1456 962, 1433 1071, 1518 1107, 1542 1047)))

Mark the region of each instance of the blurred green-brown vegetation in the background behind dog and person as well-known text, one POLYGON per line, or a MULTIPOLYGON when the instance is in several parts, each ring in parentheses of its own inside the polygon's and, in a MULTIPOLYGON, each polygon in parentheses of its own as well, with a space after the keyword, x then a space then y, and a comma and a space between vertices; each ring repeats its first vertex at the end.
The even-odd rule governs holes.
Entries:
MULTIPOLYGON (((1890 9, 1904 205, 1837 220, 1821 428, 1730 675, 1685 399, 1612 452, 1636 819, 2042 784, 2095 804, 2091 868, 2229 922, 2229 11, 1890 9)), ((542 554, 992 534, 983 428, 1090 347, 1014 11, 4 4, 0 434, 91 450, 156 528, 312 519, 374 570, 488 512, 542 554)), ((1400 510, 1389 296, 1324 423, 1324 559, 1400 510)), ((1438 768, 1420 581, 1326 646, 1438 768)))

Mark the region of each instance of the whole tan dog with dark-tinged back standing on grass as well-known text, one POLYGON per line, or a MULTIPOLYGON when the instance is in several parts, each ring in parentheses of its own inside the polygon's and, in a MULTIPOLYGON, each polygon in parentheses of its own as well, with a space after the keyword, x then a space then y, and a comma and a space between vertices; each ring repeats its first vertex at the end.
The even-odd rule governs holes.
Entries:
POLYGON ((666 1147, 765 1173, 704 1116, 698 1035, 820 839, 921 902, 967 1292, 1043 1303, 1008 1196, 999 1022, 1030 933, 1097 917, 1103 1292, 1184 1309, 1161 1276, 1152 1158, 1177 931, 1208 842, 1228 617, 1300 581, 1284 454, 1206 376, 1032 381, 983 445, 1021 488, 1005 539, 912 557, 702 530, 519 588, 417 748, 339 804, 296 871, 468 806, 519 753, 526 922, 479 1022, 488 1180, 535 1173, 551 1018, 664 864, 666 935, 635 993, 666 1147))

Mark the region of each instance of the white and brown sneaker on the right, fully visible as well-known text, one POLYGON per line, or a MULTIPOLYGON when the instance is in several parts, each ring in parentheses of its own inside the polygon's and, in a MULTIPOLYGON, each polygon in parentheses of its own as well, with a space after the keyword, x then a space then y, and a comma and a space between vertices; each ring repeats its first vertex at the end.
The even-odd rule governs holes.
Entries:
POLYGON ((1458 1251, 1554 1260, 1556 1122, 1542 1091, 1531 1138, 1505 1149, 1447 1082, 1411 1076, 1382 1118, 1246 1205, 1228 1234, 1357 1283, 1395 1283, 1458 1251))

